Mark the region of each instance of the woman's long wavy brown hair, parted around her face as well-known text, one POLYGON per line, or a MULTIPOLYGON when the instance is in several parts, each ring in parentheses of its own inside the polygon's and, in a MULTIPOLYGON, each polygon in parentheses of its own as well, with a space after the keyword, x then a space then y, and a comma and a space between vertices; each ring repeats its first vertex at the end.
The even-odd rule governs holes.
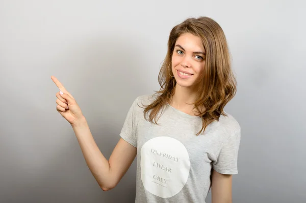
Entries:
POLYGON ((236 79, 232 72, 224 32, 219 24, 209 17, 188 18, 171 30, 167 55, 158 76, 161 88, 156 93, 156 100, 145 106, 144 116, 149 112, 148 120, 157 124, 158 113, 174 94, 176 81, 171 69, 171 58, 176 39, 184 33, 198 36, 206 52, 205 70, 199 84, 197 99, 193 103, 198 112, 196 116, 202 119, 202 128, 196 134, 198 135, 205 131, 210 123, 218 121, 220 115, 226 116, 223 108, 236 94, 236 79))

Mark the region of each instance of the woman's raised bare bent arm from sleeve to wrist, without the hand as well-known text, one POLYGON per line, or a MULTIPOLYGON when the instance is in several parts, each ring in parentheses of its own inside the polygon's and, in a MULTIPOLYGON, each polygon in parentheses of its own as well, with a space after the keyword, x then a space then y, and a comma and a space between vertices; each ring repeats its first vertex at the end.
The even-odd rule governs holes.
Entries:
POLYGON ((114 188, 133 163, 137 148, 120 139, 110 159, 107 160, 96 145, 85 118, 72 125, 72 128, 82 149, 86 164, 100 188, 104 191, 114 188))

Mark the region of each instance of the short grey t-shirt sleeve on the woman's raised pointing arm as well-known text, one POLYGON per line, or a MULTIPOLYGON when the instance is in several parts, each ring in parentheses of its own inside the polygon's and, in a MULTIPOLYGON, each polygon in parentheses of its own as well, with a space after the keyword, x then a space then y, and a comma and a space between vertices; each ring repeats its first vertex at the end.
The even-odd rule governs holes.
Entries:
POLYGON ((134 147, 137 147, 136 136, 136 110, 138 98, 134 100, 132 106, 127 112, 123 127, 120 132, 120 137, 134 147))

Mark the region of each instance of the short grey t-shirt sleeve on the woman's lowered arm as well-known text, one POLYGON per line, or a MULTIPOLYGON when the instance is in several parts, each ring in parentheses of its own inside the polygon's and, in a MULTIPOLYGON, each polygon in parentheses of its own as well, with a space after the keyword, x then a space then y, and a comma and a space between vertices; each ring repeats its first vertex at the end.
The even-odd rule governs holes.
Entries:
POLYGON ((213 169, 222 174, 237 174, 238 149, 240 145, 240 129, 232 134, 222 145, 213 162, 213 169))

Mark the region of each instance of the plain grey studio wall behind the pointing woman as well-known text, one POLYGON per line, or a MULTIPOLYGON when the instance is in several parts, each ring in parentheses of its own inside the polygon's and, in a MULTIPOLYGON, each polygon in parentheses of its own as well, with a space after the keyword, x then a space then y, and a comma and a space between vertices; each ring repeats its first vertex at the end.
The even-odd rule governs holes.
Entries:
MULTIPOLYGON (((303 1, 0 1, 0 202, 133 202, 136 162, 103 192, 56 111, 55 75, 109 157, 134 99, 159 89, 173 26, 223 28, 242 128, 237 203, 306 202, 303 1)), ((207 202, 211 202, 210 196, 207 202)))

